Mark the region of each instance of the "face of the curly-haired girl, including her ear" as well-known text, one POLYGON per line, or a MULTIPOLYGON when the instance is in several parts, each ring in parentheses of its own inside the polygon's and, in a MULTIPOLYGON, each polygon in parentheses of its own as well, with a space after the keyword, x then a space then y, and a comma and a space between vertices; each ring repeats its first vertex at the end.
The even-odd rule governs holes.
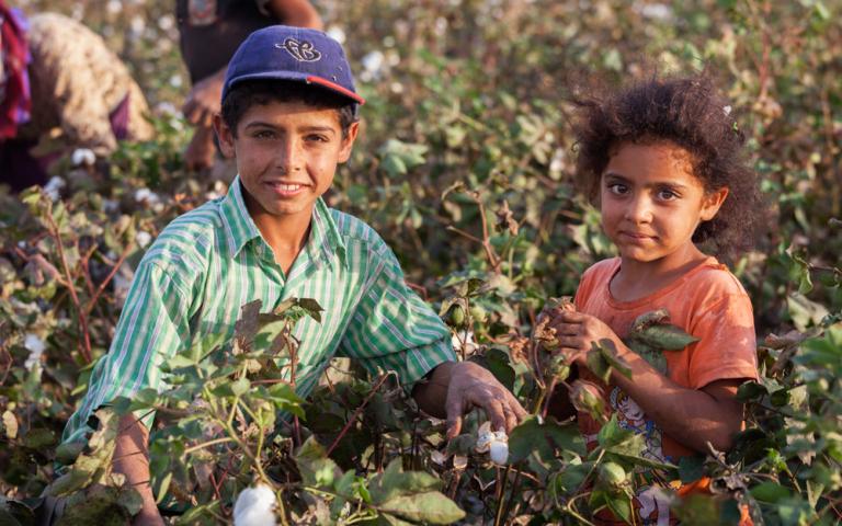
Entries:
POLYGON ((602 175, 602 227, 624 260, 673 267, 697 254, 693 232, 727 195, 728 188, 705 192, 685 149, 669 141, 626 142, 602 175))

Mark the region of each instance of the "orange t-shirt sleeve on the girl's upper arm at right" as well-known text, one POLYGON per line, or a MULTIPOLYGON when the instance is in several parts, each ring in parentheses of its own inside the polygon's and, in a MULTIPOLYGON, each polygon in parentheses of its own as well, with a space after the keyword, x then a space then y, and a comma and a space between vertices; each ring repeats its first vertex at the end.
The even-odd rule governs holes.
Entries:
POLYGON ((690 328, 699 341, 690 359, 690 382, 699 389, 716 380, 756 379, 758 355, 751 301, 728 294, 699 310, 690 328))

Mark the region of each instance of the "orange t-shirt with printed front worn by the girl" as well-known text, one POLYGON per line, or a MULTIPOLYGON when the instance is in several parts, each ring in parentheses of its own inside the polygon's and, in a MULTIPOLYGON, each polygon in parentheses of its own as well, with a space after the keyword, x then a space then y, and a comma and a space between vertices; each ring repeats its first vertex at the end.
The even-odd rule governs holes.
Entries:
MULTIPOLYGON (((585 271, 574 299, 580 312, 599 318, 625 339, 637 317, 667 309, 670 323, 698 339, 681 351, 663 353, 665 375, 680 386, 701 389, 716 380, 758 378, 751 300, 737 277, 716 258, 708 258, 673 283, 634 301, 618 301, 608 289, 619 264, 619 258, 614 258, 585 271)), ((589 370, 580 370, 580 377, 603 388, 605 405, 617 414, 621 426, 645 435, 644 456, 678 464, 681 457, 694 455, 663 434, 618 387, 605 386, 589 370)), ((578 421, 592 447, 600 424, 584 413, 579 413, 578 421)), ((653 490, 641 488, 635 507, 644 524, 669 524, 669 503, 658 499, 659 492, 653 490)))

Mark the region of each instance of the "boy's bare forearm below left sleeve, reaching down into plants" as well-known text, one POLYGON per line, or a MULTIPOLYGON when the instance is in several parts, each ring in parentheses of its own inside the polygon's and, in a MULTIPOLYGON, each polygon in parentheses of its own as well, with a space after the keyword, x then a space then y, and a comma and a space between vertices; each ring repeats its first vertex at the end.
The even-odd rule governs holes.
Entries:
POLYGON ((134 414, 124 415, 120 421, 112 466, 114 471, 126 476, 126 482, 136 489, 144 500, 144 507, 132 522, 135 526, 163 524, 149 483, 148 444, 149 430, 134 414))

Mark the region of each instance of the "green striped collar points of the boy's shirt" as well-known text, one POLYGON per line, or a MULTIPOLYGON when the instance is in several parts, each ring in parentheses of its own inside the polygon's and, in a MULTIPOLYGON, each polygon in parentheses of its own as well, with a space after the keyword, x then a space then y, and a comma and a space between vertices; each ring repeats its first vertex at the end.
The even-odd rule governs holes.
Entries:
MULTIPOLYGON (((262 239, 258 226, 254 225, 246 207, 241 184, 240 176, 237 175, 228 188, 228 194, 219 204, 223 222, 228 232, 228 251, 231 258, 236 258, 249 241, 255 238, 262 239)), ((321 261, 329 261, 332 253, 337 253, 343 263, 348 263, 345 243, 342 241, 330 208, 321 197, 316 199, 310 221, 310 236, 304 250, 317 265, 320 265, 321 261)))

